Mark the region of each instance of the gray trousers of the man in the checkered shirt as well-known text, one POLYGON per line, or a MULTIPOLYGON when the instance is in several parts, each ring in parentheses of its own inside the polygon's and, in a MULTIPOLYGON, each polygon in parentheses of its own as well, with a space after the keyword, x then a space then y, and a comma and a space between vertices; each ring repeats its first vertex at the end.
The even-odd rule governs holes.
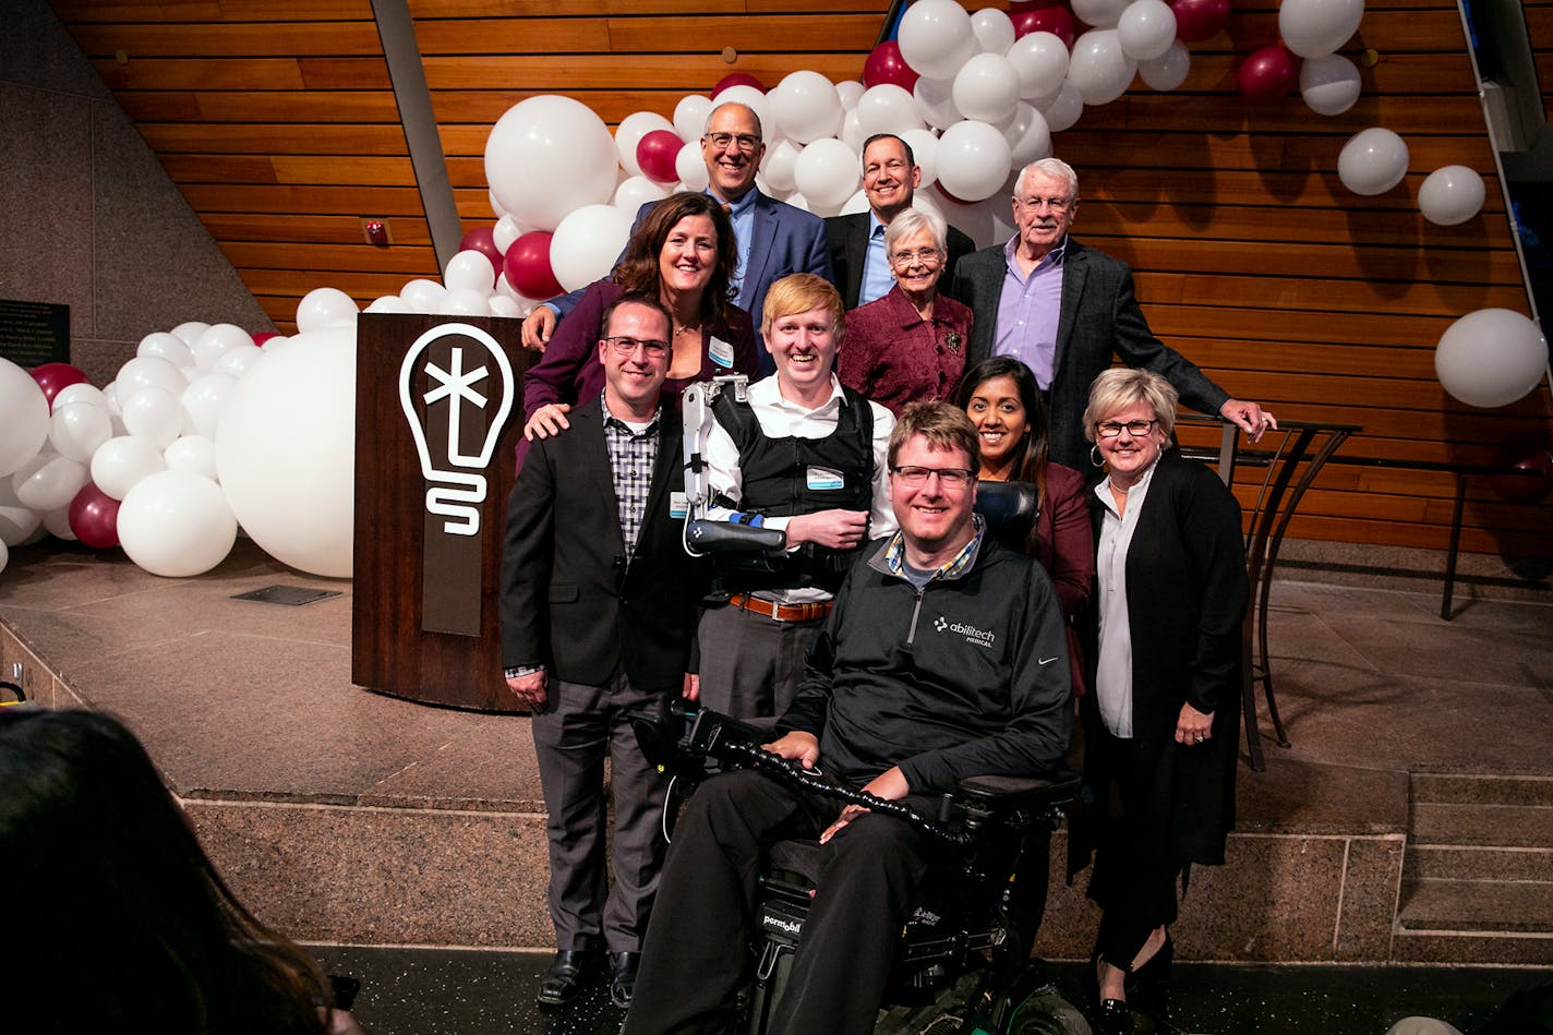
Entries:
POLYGON ((657 702, 624 676, 603 687, 551 679, 545 707, 534 713, 534 754, 550 813, 550 920, 556 948, 637 953, 648 929, 663 866, 663 793, 668 780, 637 746, 632 709, 657 702), (613 886, 604 873, 604 758, 615 803, 610 853, 613 886))

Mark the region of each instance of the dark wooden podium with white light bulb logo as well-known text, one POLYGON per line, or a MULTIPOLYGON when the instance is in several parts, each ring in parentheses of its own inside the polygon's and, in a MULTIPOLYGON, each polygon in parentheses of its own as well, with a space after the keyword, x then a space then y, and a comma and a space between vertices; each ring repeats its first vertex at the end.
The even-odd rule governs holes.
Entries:
POLYGON ((351 681, 517 712, 497 595, 523 426, 520 322, 363 312, 356 326, 351 681))

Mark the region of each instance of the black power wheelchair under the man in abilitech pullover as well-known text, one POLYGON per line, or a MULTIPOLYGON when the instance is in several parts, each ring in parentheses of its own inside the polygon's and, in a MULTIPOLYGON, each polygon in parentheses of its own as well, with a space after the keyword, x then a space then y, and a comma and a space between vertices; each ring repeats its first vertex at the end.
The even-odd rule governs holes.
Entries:
MULTIPOLYGON (((1078 791, 1076 775, 966 779, 929 817, 761 751, 769 730, 690 701, 638 716, 635 732, 646 757, 679 788, 694 788, 719 769, 758 769, 804 793, 896 816, 944 849, 901 934, 876 1035, 1089 1035, 1082 1013, 1031 959, 1051 831, 1078 791)), ((739 1030, 747 1035, 766 1032, 781 1009, 817 872, 812 841, 780 841, 769 850, 750 945, 753 981, 741 1001, 739 1030)))

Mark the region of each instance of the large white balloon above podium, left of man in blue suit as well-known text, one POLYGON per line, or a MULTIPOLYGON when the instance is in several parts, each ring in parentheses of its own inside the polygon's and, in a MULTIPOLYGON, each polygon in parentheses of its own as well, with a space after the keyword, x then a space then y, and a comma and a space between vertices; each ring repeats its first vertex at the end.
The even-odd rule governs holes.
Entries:
POLYGON ((617 165, 604 120, 568 96, 519 101, 486 137, 491 191, 517 222, 537 230, 554 230, 576 208, 609 200, 617 165))

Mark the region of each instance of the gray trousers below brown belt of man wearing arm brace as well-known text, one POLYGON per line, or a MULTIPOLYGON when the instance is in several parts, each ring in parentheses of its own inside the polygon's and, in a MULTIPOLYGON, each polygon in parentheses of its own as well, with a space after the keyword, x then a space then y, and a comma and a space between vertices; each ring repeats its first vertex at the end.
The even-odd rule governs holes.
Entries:
POLYGON ((697 629, 700 704, 741 720, 781 718, 823 626, 825 619, 776 622, 731 605, 708 608, 697 629))

